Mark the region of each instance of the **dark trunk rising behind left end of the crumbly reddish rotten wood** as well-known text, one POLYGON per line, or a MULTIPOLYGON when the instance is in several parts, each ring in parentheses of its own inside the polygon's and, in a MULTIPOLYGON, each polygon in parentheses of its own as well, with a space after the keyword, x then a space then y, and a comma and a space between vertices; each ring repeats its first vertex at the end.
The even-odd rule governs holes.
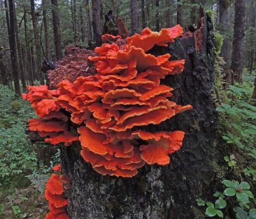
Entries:
POLYGON ((51 0, 52 4, 52 23, 53 23, 53 33, 54 33, 54 44, 56 51, 56 59, 62 58, 62 43, 60 40, 60 26, 59 26, 59 9, 58 0, 51 0))

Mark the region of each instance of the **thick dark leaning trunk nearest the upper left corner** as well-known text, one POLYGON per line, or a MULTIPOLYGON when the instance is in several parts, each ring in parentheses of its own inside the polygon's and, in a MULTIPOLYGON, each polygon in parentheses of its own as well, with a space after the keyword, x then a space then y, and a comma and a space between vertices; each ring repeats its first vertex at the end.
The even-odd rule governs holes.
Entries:
MULTIPOLYGON (((9 44, 10 44, 10 54, 11 54, 11 67, 12 67, 12 77, 14 79, 14 87, 15 94, 21 95, 21 88, 19 88, 19 73, 18 73, 18 60, 17 60, 17 48, 16 48, 16 38, 15 38, 15 9, 14 9, 14 1, 9 0, 9 12, 10 12, 10 20, 9 13, 6 10, 6 22, 9 23, 9 44)), ((7 9, 7 2, 4 0, 5 8, 7 9)))

